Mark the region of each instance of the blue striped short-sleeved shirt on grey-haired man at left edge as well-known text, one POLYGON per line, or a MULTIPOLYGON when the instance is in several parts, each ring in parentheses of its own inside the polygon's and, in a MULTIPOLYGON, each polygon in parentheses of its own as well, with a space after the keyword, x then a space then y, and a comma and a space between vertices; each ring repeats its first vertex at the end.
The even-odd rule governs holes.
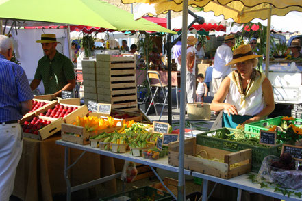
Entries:
POLYGON ((0 55, 0 122, 20 120, 21 103, 34 98, 21 66, 0 55))

